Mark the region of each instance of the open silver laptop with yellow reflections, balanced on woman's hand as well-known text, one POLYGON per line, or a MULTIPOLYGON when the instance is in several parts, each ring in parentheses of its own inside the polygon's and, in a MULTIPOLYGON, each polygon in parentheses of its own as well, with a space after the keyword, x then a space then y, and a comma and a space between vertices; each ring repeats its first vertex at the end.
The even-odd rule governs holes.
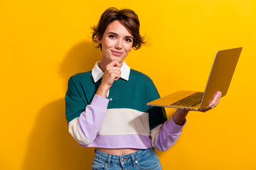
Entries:
POLYGON ((227 94, 241 51, 242 47, 217 52, 204 92, 176 91, 147 105, 201 111, 210 104, 217 91, 221 91, 221 97, 227 94))

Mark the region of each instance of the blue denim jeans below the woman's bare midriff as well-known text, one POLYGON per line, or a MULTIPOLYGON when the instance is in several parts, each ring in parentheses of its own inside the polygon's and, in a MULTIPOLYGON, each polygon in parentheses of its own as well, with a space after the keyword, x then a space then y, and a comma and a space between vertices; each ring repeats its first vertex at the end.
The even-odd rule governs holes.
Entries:
POLYGON ((95 169, 147 169, 160 170, 161 164, 154 149, 140 149, 132 154, 113 155, 95 149, 92 170, 95 169))

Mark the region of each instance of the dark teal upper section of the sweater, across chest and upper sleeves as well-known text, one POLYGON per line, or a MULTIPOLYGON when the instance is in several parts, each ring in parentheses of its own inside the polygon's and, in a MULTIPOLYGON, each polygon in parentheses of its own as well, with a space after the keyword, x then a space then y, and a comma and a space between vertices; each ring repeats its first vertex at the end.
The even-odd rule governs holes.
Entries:
MULTIPOLYGON (((100 81, 101 79, 94 83, 91 72, 79 73, 70 77, 65 96, 68 122, 73 118, 78 118, 80 113, 85 111, 85 107, 92 101, 100 86, 100 81), (76 98, 71 95, 76 96, 76 98), (79 106, 75 103, 79 103, 79 106)), ((129 81, 124 79, 114 81, 108 98, 111 99, 107 108, 131 108, 149 113, 150 130, 166 121, 166 113, 163 108, 146 106, 149 101, 159 98, 153 81, 134 69, 131 69, 129 81)))

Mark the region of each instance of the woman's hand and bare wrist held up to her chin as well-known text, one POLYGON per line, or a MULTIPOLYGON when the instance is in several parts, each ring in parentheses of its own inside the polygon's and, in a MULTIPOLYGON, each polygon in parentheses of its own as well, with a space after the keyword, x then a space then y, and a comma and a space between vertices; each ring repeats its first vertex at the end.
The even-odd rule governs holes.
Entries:
POLYGON ((102 77, 102 81, 96 92, 97 95, 103 97, 107 96, 107 91, 114 84, 114 81, 117 81, 121 77, 120 67, 121 64, 117 62, 117 60, 114 60, 107 64, 104 75, 102 77))

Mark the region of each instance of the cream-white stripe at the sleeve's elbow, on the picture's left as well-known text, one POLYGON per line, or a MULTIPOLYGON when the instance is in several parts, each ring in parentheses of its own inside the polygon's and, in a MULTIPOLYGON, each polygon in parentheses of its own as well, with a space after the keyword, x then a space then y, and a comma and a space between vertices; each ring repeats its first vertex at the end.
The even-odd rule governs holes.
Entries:
POLYGON ((92 142, 90 140, 87 140, 85 138, 85 135, 82 134, 82 131, 78 127, 78 118, 75 118, 68 123, 68 131, 74 137, 74 139, 82 145, 89 145, 92 142))

